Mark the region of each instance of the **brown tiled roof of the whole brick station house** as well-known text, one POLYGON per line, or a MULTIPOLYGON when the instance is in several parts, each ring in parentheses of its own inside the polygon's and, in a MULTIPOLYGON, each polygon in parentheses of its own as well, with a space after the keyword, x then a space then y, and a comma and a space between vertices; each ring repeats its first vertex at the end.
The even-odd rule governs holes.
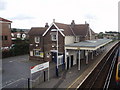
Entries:
MULTIPOLYGON (((60 30, 60 33, 64 36, 76 36, 76 35, 80 35, 80 36, 86 36, 89 32, 89 24, 75 24, 74 27, 72 27, 69 24, 63 24, 63 23, 57 23, 54 22, 51 24, 50 27, 52 27, 53 25, 55 25, 55 27, 57 29, 63 29, 60 30)), ((46 27, 37 27, 37 28, 31 28, 31 30, 29 31, 29 35, 45 35, 48 30, 50 29, 50 27, 46 28, 46 27)), ((90 29, 91 30, 91 29, 90 29)), ((92 30, 91 30, 92 34, 95 34, 92 30)))

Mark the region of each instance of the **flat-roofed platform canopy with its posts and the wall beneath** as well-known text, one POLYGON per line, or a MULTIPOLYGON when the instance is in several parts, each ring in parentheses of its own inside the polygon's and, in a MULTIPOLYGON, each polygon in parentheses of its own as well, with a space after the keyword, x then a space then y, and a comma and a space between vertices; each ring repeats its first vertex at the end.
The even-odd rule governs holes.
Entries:
POLYGON ((77 64, 78 70, 80 70, 81 60, 85 60, 88 64, 89 60, 102 53, 105 50, 105 45, 111 41, 112 39, 95 39, 65 45, 66 69, 77 64))

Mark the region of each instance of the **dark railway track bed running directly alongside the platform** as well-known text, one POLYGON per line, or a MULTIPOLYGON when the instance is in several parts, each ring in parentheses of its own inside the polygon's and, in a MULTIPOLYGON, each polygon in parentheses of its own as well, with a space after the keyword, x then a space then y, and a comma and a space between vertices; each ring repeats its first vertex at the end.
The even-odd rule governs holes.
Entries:
MULTIPOLYGON (((81 86, 78 89, 81 88, 107 88, 108 85, 108 73, 111 72, 109 69, 111 67, 114 67, 114 64, 116 62, 115 55, 117 48, 119 46, 119 43, 115 45, 102 59, 102 61, 98 64, 98 66, 93 70, 93 72, 89 75, 89 77, 81 84, 81 86), (105 86, 106 83, 106 86, 105 86)), ((111 68, 112 69, 112 68, 111 68)))

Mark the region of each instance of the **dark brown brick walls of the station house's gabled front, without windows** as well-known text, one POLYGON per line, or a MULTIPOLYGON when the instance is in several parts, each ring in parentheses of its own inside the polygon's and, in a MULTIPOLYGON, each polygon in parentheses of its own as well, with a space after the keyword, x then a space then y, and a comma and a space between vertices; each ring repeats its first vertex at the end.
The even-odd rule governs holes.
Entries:
MULTIPOLYGON (((51 33, 53 32, 53 31, 51 31, 51 29, 56 29, 56 28, 54 26, 52 26, 44 37, 42 35, 39 36, 40 43, 37 44, 38 45, 37 47, 36 47, 36 43, 34 40, 35 36, 34 35, 29 36, 29 38, 30 38, 30 40, 29 40, 30 41, 30 47, 29 47, 30 51, 33 51, 34 49, 40 49, 44 53, 43 58, 36 57, 36 56, 30 56, 29 57, 30 60, 52 61, 51 50, 56 50, 57 42, 51 40, 51 33), (47 57, 48 54, 49 54, 49 57, 47 57)), ((58 42, 59 53, 63 54, 64 53, 64 37, 60 34, 60 32, 58 32, 58 41, 59 41, 58 42)))

